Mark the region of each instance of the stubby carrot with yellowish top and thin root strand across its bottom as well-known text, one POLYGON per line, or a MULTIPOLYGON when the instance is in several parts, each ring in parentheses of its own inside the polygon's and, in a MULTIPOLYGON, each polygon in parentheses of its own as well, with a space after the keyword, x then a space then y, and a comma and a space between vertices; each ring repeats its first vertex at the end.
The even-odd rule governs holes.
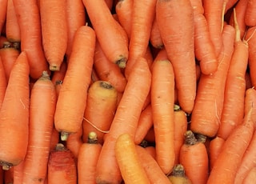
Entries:
POLYGON ((117 90, 110 82, 97 81, 88 89, 86 110, 82 122, 82 139, 86 142, 91 131, 97 134, 98 143, 103 143, 104 135, 110 130, 117 109, 117 90))

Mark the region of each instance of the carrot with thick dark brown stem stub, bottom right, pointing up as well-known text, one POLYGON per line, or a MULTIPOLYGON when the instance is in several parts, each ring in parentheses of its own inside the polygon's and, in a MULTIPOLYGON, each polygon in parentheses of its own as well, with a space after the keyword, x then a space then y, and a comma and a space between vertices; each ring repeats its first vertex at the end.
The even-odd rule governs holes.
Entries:
POLYGON ((185 142, 180 149, 179 163, 184 166, 186 176, 192 183, 206 183, 209 170, 206 146, 197 141, 191 130, 186 130, 185 142))

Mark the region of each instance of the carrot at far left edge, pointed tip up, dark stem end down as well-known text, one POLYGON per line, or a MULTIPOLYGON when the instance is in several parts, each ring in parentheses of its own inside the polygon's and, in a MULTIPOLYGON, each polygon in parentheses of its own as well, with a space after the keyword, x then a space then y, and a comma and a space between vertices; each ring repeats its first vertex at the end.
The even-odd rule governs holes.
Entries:
POLYGON ((29 104, 29 64, 26 53, 22 52, 10 73, 0 110, 0 164, 4 170, 17 166, 25 158, 28 145, 29 104))

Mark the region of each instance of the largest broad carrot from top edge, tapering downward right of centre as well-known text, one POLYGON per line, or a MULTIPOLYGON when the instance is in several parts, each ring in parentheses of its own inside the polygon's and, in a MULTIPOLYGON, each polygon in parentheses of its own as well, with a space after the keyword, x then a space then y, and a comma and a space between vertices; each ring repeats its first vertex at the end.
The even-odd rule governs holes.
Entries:
POLYGON ((156 5, 156 18, 168 58, 174 67, 179 106, 190 114, 194 108, 196 94, 194 21, 191 3, 189 0, 159 0, 156 5))

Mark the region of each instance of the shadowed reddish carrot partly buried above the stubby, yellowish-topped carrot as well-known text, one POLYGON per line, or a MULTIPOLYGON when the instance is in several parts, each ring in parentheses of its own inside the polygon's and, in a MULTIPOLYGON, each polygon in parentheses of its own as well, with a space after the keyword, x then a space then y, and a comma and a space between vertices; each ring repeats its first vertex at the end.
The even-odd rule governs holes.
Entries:
POLYGON ((127 83, 125 76, 116 64, 110 62, 110 60, 106 58, 98 41, 96 41, 94 52, 94 69, 98 74, 99 79, 110 82, 119 92, 125 90, 127 83))

